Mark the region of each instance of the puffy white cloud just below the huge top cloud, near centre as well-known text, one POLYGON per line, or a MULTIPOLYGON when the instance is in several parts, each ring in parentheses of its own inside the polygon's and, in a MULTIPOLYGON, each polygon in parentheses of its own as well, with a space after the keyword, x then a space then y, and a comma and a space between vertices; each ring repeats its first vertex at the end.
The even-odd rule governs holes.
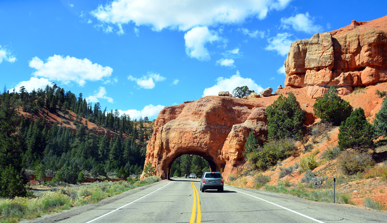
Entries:
POLYGON ((184 35, 185 53, 191 58, 196 58, 200 61, 210 60, 211 56, 205 48, 206 43, 212 43, 223 40, 217 35, 216 31, 209 30, 208 27, 194 27, 184 35))

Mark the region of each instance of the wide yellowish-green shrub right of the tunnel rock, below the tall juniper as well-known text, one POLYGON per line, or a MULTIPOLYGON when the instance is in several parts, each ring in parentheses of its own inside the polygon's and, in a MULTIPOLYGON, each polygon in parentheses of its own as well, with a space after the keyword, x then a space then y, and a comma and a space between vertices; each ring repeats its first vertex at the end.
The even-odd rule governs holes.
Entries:
POLYGON ((295 153, 296 145, 292 139, 269 141, 263 148, 257 148, 246 155, 246 160, 251 163, 251 168, 266 170, 274 166, 277 161, 289 157, 295 153))

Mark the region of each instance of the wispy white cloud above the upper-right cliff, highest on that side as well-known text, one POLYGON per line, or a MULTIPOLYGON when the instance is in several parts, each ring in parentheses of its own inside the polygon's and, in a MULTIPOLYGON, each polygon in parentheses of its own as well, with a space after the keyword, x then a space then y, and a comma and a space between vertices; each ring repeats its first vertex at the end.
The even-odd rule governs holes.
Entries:
POLYGON ((281 19, 281 26, 288 28, 292 26, 296 31, 302 31, 306 33, 316 33, 322 31, 322 26, 314 24, 314 18, 310 17, 309 12, 305 14, 297 14, 289 18, 281 19))

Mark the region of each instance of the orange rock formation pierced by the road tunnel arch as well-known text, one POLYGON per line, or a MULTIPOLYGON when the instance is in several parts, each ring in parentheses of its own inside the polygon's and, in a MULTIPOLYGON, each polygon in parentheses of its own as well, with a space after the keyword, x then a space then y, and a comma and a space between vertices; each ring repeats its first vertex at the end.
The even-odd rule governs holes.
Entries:
POLYGON ((243 164, 245 140, 251 131, 267 135, 265 107, 254 100, 207 96, 195 102, 164 107, 147 145, 146 163, 165 179, 166 169, 183 154, 200 155, 223 176, 243 164))

